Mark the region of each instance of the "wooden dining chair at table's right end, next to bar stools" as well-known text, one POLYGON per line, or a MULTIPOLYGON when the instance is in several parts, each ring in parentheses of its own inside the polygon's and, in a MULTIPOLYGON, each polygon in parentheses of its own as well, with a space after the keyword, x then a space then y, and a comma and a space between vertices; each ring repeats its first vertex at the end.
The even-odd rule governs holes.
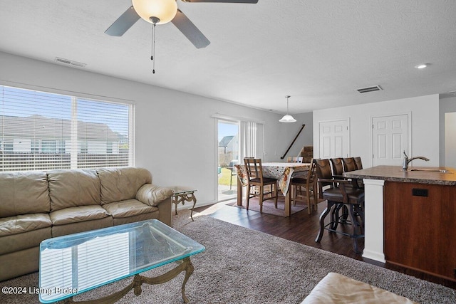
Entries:
POLYGON ((312 208, 314 211, 317 210, 316 164, 313 159, 307 177, 291 178, 289 191, 291 191, 291 202, 294 205, 296 205, 296 201, 303 201, 307 202, 308 214, 311 214, 312 208))

